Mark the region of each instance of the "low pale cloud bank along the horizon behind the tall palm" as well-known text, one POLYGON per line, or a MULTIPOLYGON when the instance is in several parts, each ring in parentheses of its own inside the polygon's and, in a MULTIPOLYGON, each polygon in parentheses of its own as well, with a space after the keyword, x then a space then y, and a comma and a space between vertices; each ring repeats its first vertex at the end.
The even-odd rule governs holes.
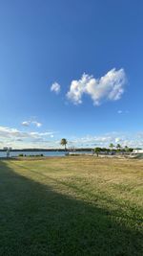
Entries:
MULTIPOLYGON (((0 126, 0 148, 10 146, 16 149, 22 148, 60 148, 60 139, 55 140, 53 131, 22 131, 17 128, 9 128, 0 126)), ((56 138, 56 136, 55 136, 56 138)), ((143 148, 143 132, 136 133, 120 133, 110 132, 101 135, 87 135, 83 137, 68 138, 68 147, 109 147, 111 143, 121 146, 129 146, 133 148, 143 148)))

